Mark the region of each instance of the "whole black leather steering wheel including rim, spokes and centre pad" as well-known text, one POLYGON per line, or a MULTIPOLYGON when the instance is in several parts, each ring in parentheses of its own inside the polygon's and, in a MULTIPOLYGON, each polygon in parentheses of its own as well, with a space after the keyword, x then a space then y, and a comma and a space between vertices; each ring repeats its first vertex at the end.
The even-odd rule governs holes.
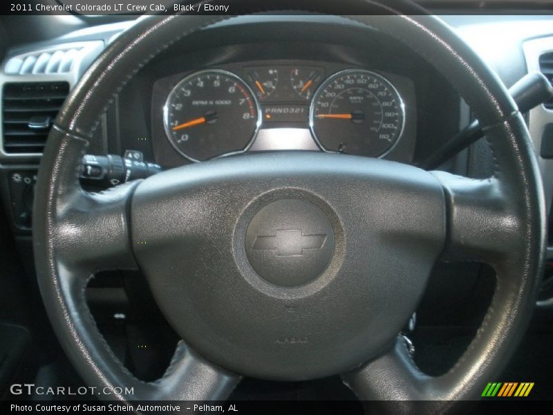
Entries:
MULTIPOLYGON (((294 4, 330 10, 316 0, 294 4)), ((140 19, 66 100, 41 160, 33 216, 41 295, 68 357, 90 385, 133 387, 133 395, 108 398, 223 400, 241 376, 341 374, 364 400, 443 400, 432 410, 448 412, 478 398, 516 349, 545 247, 545 204, 523 118, 496 75, 440 19, 407 3, 353 4, 373 15, 348 19, 420 53, 462 95, 485 129, 493 176, 283 151, 85 192, 82 156, 114 96, 171 44, 230 17, 140 19), (447 374, 431 377, 398 333, 440 255, 490 264, 497 283, 467 351, 447 374), (122 366, 88 311, 86 284, 109 269, 142 270, 183 339, 155 382, 122 366)), ((420 405, 426 412, 436 404, 420 405)))

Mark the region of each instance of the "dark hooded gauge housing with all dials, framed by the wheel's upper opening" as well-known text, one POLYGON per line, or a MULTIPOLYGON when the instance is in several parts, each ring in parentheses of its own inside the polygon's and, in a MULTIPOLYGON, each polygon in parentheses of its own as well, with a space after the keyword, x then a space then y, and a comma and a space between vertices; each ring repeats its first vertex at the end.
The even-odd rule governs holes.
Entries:
POLYGON ((164 168, 285 150, 417 163, 468 121, 399 42, 340 18, 270 20, 216 25, 142 68, 106 113, 108 152, 164 168))

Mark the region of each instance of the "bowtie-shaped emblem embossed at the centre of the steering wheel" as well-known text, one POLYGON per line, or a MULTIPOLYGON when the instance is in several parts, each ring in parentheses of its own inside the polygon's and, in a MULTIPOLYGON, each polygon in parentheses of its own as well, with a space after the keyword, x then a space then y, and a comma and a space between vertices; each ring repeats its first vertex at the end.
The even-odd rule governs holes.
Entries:
POLYGON ((321 249, 325 241, 326 234, 304 235, 301 229, 277 229, 274 235, 255 237, 252 249, 275 250, 277 257, 301 257, 303 250, 321 249))

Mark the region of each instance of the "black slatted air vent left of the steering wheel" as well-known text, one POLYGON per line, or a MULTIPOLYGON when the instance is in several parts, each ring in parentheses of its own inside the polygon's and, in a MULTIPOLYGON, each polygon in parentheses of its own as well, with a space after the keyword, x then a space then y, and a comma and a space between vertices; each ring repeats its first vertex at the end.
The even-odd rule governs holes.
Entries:
POLYGON ((68 82, 3 85, 2 128, 6 153, 41 153, 53 120, 69 93, 68 82))

